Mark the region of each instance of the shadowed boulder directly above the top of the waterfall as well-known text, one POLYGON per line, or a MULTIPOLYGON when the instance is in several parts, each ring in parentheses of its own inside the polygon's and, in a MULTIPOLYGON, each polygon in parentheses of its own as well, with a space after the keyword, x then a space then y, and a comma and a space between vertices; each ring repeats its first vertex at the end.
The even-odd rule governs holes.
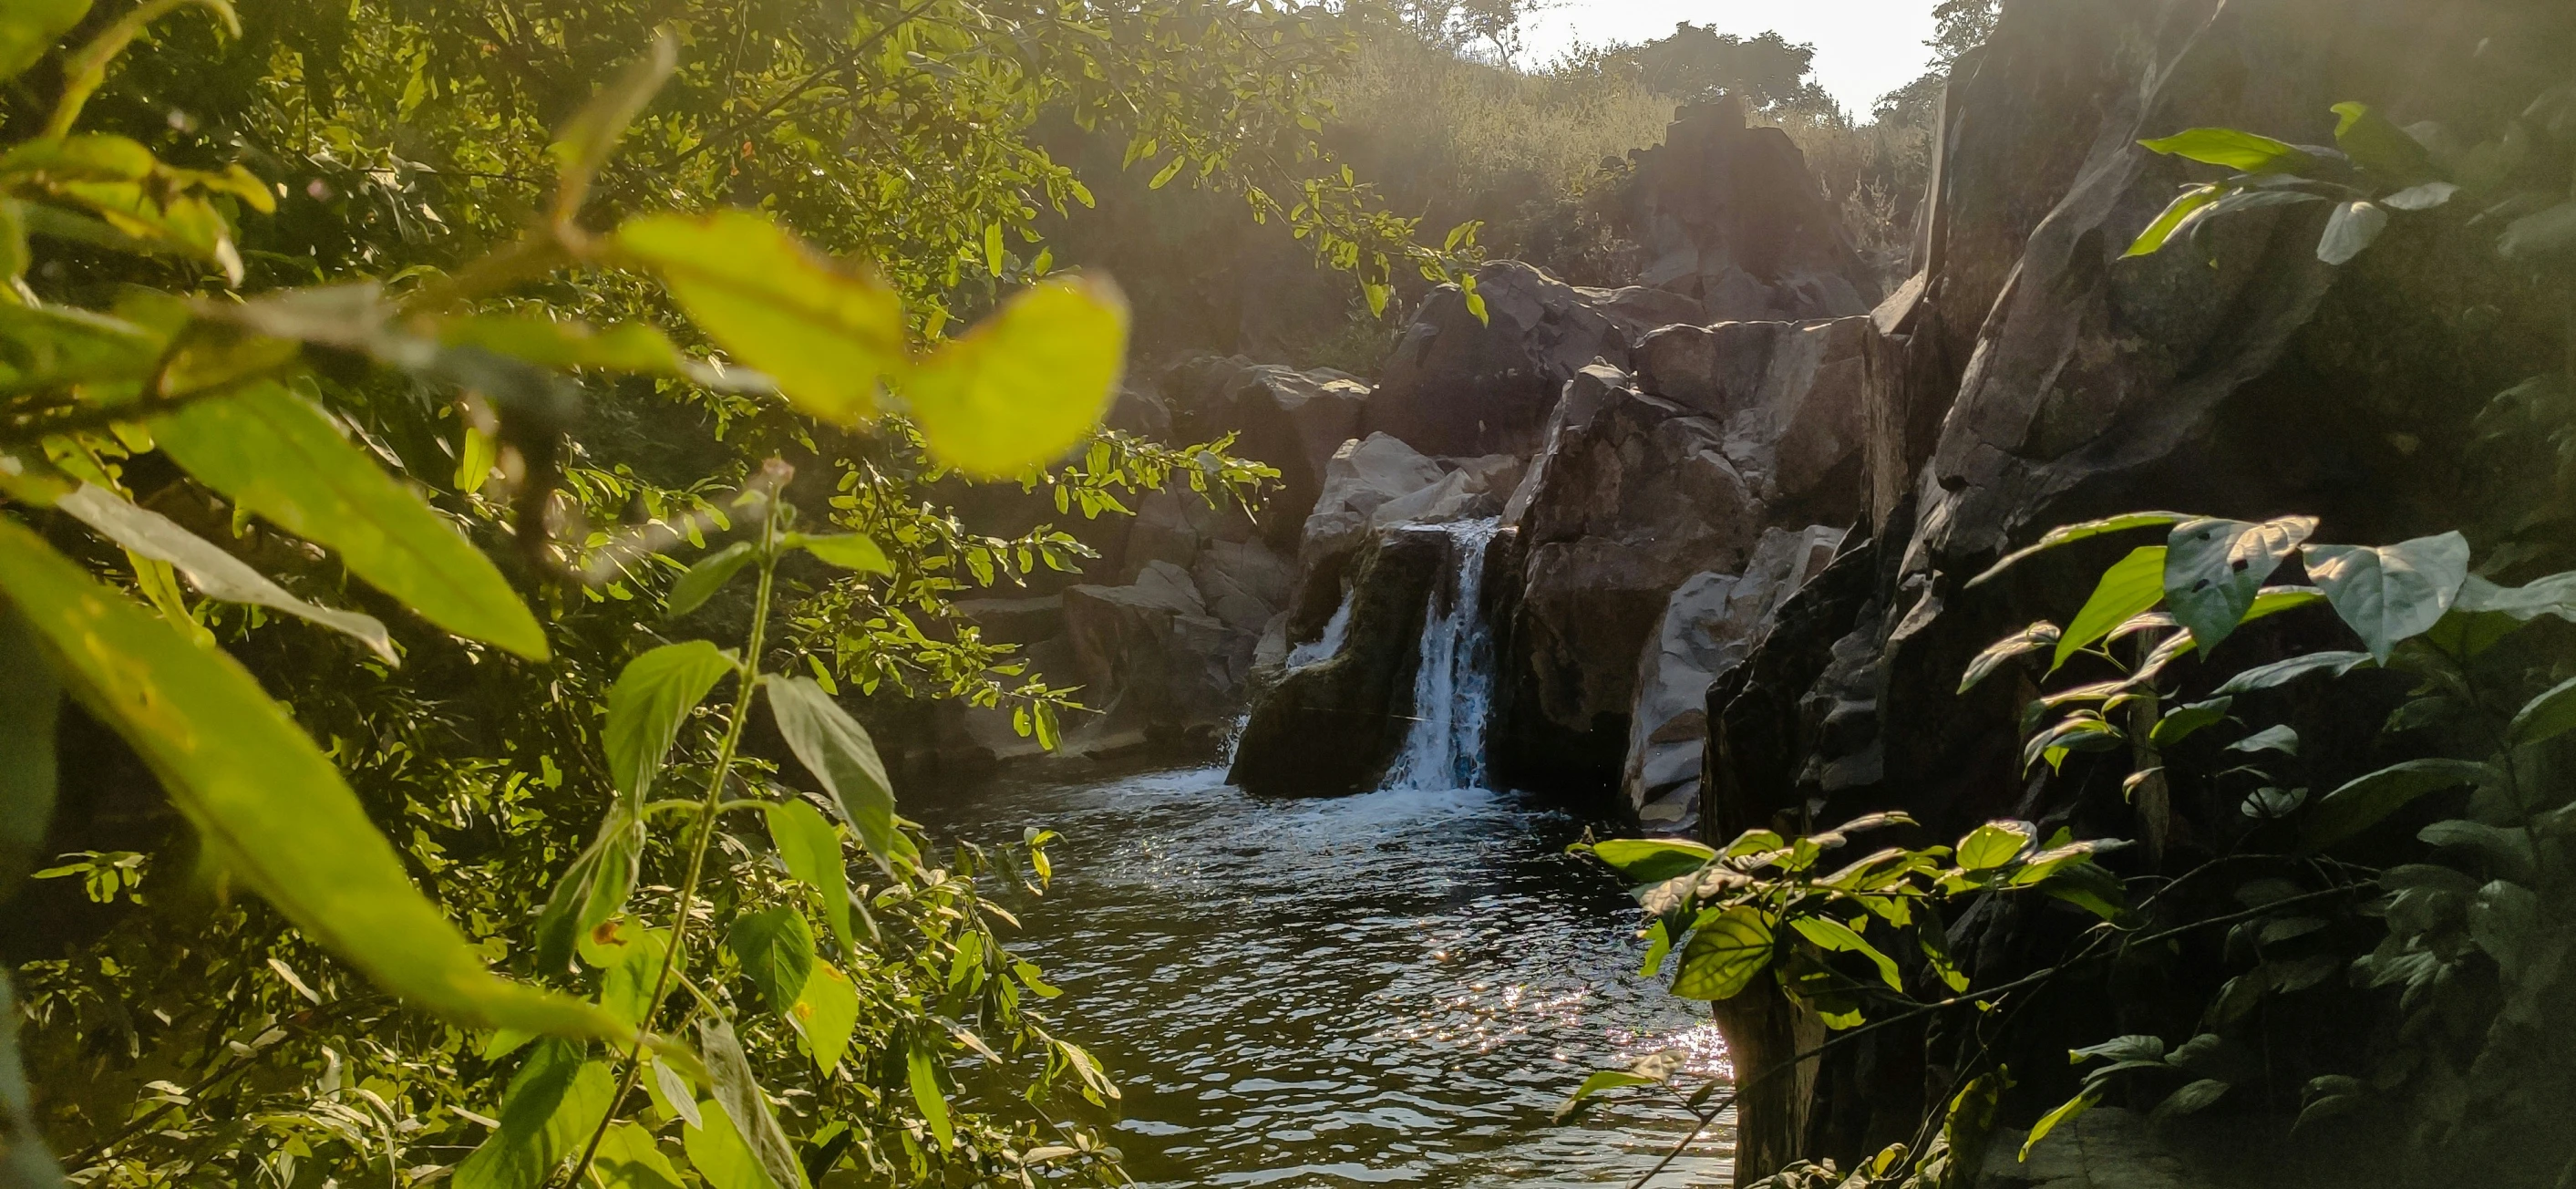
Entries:
POLYGON ((1440 286, 1386 356, 1365 431, 1425 454, 1530 454, 1574 371, 1628 364, 1631 346, 1672 322, 1703 322, 1685 297, 1577 289, 1520 260, 1476 268, 1479 320, 1458 286, 1440 286))

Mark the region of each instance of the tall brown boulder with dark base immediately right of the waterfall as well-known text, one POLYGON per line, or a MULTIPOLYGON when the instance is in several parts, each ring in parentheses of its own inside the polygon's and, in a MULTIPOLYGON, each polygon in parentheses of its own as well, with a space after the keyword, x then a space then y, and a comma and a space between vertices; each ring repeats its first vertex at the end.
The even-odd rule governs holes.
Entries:
POLYGON ((1566 384, 1504 524, 1517 529, 1517 570, 1494 583, 1510 725, 1497 761, 1507 779, 1592 771, 1607 784, 1628 745, 1636 658, 1664 604, 1692 573, 1734 573, 1762 508, 1716 420, 1589 366, 1566 384))

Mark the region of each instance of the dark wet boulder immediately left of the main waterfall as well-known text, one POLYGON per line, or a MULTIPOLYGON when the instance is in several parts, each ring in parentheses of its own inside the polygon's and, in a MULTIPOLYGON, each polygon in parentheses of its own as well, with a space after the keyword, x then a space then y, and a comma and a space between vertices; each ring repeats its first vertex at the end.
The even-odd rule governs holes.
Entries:
POLYGON ((1229 784, 1255 794, 1376 789, 1404 743, 1432 591, 1455 567, 1430 526, 1378 531, 1352 570, 1340 647, 1293 665, 1260 696, 1234 748, 1229 784))

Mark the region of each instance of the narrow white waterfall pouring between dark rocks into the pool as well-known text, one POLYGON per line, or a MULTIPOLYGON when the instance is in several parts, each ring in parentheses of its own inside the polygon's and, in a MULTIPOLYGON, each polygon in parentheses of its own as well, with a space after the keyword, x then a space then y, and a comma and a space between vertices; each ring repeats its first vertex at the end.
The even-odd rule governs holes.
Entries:
POLYGON ((1458 575, 1425 609, 1414 725, 1386 771, 1388 789, 1481 789, 1484 725, 1494 707, 1494 632, 1484 624, 1484 549, 1499 518, 1448 524, 1458 575), (1443 596, 1448 601, 1443 604, 1443 596))

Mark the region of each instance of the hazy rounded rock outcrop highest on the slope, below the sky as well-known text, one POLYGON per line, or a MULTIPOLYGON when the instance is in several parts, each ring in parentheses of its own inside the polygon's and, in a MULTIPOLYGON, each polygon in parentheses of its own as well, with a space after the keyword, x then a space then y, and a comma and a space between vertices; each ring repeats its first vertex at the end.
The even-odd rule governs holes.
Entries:
POLYGON ((1713 320, 1862 315, 1880 297, 1806 155, 1780 129, 1747 129, 1736 98, 1682 108, 1636 155, 1628 219, 1643 284, 1713 320))

